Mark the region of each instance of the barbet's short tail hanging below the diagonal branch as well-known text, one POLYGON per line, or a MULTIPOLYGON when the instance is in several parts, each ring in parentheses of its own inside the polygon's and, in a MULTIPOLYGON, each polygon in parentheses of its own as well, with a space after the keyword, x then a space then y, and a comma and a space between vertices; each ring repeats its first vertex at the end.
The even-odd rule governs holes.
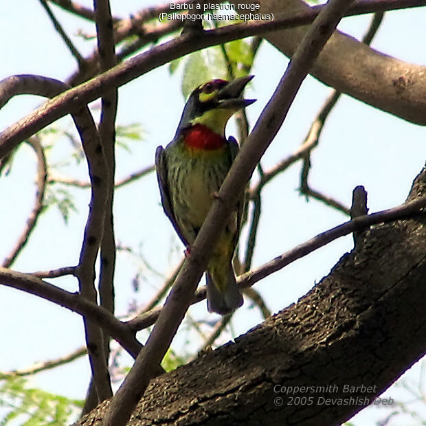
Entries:
POLYGON ((209 312, 226 315, 243 304, 238 285, 236 284, 234 268, 229 266, 209 267, 205 274, 207 282, 207 308, 209 312))

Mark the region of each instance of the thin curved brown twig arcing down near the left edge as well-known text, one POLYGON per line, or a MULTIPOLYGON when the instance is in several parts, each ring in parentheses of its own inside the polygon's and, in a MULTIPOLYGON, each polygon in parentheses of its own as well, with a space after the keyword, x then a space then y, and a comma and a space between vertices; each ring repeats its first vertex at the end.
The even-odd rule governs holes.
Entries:
POLYGON ((43 146, 41 145, 40 139, 38 136, 32 136, 27 140, 27 143, 34 149, 37 157, 37 175, 36 175, 36 199, 34 201, 34 207, 30 212, 27 220, 25 221, 25 227, 21 232, 16 244, 3 260, 1 266, 8 268, 16 260, 18 255, 21 253, 23 247, 27 244, 30 235, 36 227, 38 217, 43 211, 43 199, 45 197, 45 188, 46 188, 46 177, 47 177, 47 162, 45 157, 45 152, 43 146))

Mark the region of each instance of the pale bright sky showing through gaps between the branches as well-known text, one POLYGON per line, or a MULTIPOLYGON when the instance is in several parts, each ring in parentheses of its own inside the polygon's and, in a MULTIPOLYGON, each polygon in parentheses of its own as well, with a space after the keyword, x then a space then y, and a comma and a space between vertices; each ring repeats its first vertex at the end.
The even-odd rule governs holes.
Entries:
MULTIPOLYGON (((91 5, 90 1, 80 3, 91 5)), ((142 6, 135 3, 139 2, 113 0, 113 14, 126 16, 129 12, 136 12, 142 6)), ((74 36, 79 29, 94 34, 90 23, 74 19, 58 8, 53 10, 68 34, 74 36)), ((345 19, 340 28, 360 38, 369 20, 370 16, 345 19)), ((396 58, 426 65, 425 21, 425 8, 388 12, 372 46, 396 58)), ((1 1, 0 34, 0 79, 13 74, 41 74, 65 80, 76 67, 37 1, 1 1)), ((91 43, 75 36, 73 40, 82 54, 91 52, 91 43)), ((271 96, 286 65, 287 59, 282 54, 267 43, 262 45, 253 70, 256 78, 246 95, 258 99, 247 109, 251 126, 271 96)), ((131 143, 131 154, 119 151, 117 179, 153 164, 155 148, 159 144, 167 144, 174 135, 184 102, 180 81, 181 71, 170 77, 168 67, 164 66, 120 88, 117 122, 123 125, 141 123, 145 137, 142 142, 131 143)), ((265 170, 298 148, 328 93, 330 89, 317 80, 306 79, 283 128, 262 159, 265 170)), ((41 102, 41 98, 34 96, 14 98, 0 112, 0 131, 41 102)), ((56 125, 71 129, 69 117, 56 125)), ((233 129, 233 126, 229 126, 228 134, 234 133, 233 129)), ((52 139, 52 142, 51 159, 60 162, 67 157, 69 144, 64 139, 52 139)), ((350 205, 352 189, 362 184, 368 191, 370 212, 374 212, 405 200, 412 180, 425 164, 425 158, 425 130, 422 127, 344 96, 330 115, 320 146, 313 153, 310 183, 316 190, 346 205, 350 205)), ((34 154, 25 146, 16 156, 11 175, 0 180, 0 258, 14 244, 32 208, 35 170, 34 154)), ((83 166, 69 166, 61 169, 61 172, 85 179, 83 166)), ((300 164, 292 166, 270 183, 264 192, 254 267, 346 220, 343 214, 317 201, 306 202, 304 197, 300 197, 297 190, 299 174, 300 164)), ((41 216, 36 232, 14 264, 14 269, 35 271, 77 263, 89 192, 80 189, 69 191, 75 197, 78 214, 71 214, 69 225, 65 226, 58 210, 49 208, 41 216)), ((155 175, 117 190, 115 221, 117 242, 133 247, 164 275, 172 271, 181 257, 182 247, 159 205, 155 175), (178 249, 170 251, 170 243, 178 249)), ((341 238, 263 280, 256 285, 256 289, 265 296, 269 308, 278 312, 309 291, 351 248, 352 236, 341 238)), ((163 280, 144 268, 142 289, 139 293, 132 293, 131 280, 137 265, 131 256, 119 254, 117 258, 115 285, 118 314, 126 312, 133 300, 139 303, 148 300, 149 295, 155 292, 155 284, 163 280)), ((76 291, 77 288, 76 281, 71 278, 52 282, 69 291, 76 291)), ((240 309, 235 315, 234 335, 245 333, 261 321, 257 309, 249 309, 248 306, 246 302, 245 309, 240 309)), ((3 341, 0 370, 24 368, 34 361, 63 356, 84 343, 82 321, 78 315, 34 296, 1 287, 0 312, 3 341)), ((215 319, 205 315, 205 302, 194 306, 190 313, 194 319, 215 319)), ((197 348, 193 341, 186 341, 190 336, 181 333, 175 340, 175 348, 184 352, 197 348)), ((126 361, 126 358, 123 360, 126 361)), ((418 380, 419 371, 418 366, 414 368, 410 379, 418 380)), ((81 399, 88 377, 87 360, 79 359, 66 368, 38 374, 30 383, 81 399)), ((399 392, 391 388, 386 394, 395 398, 399 392)), ((388 412, 384 408, 364 410, 355 424, 373 424, 373 418, 383 418, 385 413, 388 412)), ((398 419, 401 422, 402 418, 398 419)), ((398 421, 389 424, 405 424, 398 421)))

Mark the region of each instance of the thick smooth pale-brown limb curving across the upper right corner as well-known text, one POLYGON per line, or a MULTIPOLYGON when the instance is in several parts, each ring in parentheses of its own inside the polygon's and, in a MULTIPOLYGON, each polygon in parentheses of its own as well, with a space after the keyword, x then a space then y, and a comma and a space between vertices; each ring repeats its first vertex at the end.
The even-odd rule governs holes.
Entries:
MULTIPOLYGON (((308 10, 302 0, 234 0, 258 3, 260 12, 291 14, 308 10)), ((265 34, 286 56, 293 56, 309 25, 265 34)), ((426 67, 377 52, 341 32, 335 32, 311 69, 312 76, 342 93, 415 124, 426 124, 426 67)))

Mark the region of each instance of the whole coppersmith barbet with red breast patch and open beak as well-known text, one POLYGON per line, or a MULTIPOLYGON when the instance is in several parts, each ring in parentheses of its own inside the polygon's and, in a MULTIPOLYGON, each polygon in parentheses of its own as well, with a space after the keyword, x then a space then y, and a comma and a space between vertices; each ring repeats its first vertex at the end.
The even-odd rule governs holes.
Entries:
MULTIPOLYGON (((161 204, 186 246, 194 243, 237 153, 238 142, 225 137, 232 115, 256 100, 243 90, 254 76, 231 82, 216 78, 192 91, 172 141, 155 152, 161 204)), ((237 197, 206 271, 209 312, 227 315, 243 304, 232 259, 238 243, 244 194, 237 197)))

